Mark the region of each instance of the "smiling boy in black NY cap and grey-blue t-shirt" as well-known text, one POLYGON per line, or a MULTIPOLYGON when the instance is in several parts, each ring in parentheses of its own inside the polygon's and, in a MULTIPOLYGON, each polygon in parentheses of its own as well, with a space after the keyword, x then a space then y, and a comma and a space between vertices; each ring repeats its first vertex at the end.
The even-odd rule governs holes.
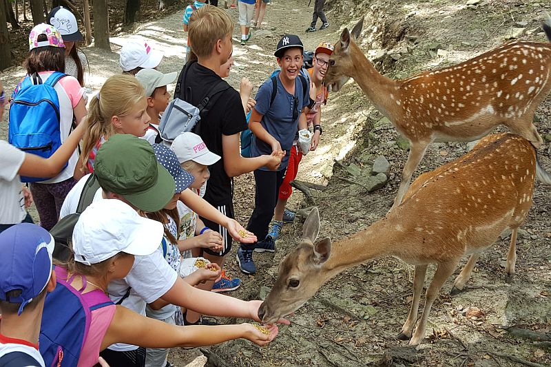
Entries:
POLYGON ((251 112, 249 129, 254 134, 251 157, 279 152, 285 155, 278 171, 267 167, 254 171, 255 208, 247 230, 253 232, 259 241, 241 244, 238 249, 237 259, 244 273, 256 273, 253 251, 275 251, 275 240, 268 235, 268 227, 287 170, 295 133, 297 128, 306 129, 305 109, 311 103, 310 85, 300 75, 303 50, 302 42, 294 34, 285 34, 280 39, 274 54, 281 71, 262 83, 256 94, 256 106, 251 112))

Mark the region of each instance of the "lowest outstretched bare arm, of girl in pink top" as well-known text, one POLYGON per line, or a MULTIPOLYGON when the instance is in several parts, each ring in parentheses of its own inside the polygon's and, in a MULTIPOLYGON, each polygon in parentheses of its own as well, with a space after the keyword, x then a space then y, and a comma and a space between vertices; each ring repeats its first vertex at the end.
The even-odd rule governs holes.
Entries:
POLYGON ((278 335, 277 326, 267 326, 264 335, 251 324, 216 326, 175 326, 138 315, 123 306, 116 306, 115 315, 101 342, 101 350, 116 342, 149 348, 177 346, 209 346, 240 337, 265 346, 278 335))

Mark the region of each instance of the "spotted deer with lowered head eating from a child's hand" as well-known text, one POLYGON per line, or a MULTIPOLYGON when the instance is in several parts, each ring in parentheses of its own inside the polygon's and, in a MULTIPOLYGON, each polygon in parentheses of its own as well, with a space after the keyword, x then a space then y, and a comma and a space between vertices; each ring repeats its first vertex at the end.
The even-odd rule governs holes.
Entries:
POLYGON ((409 342, 421 343, 430 307, 459 260, 472 254, 455 280, 455 289, 463 289, 479 253, 506 228, 512 229, 508 279, 514 274, 517 229, 532 205, 536 176, 551 185, 551 174, 540 167, 530 142, 513 134, 494 134, 465 156, 419 176, 402 205, 364 231, 334 244, 329 238, 315 242, 320 217, 314 209, 304 222, 302 242, 280 263, 278 279, 258 309, 258 317, 262 322, 275 322, 302 306, 337 273, 393 255, 415 265, 413 301, 399 339, 412 336, 427 266, 437 264, 422 317, 409 342))

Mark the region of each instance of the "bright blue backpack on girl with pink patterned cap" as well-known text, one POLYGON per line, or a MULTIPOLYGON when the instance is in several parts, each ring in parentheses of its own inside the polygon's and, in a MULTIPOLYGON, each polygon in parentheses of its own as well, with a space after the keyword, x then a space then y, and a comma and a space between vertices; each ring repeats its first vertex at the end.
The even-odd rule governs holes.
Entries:
MULTIPOLYGON (((11 145, 42 158, 49 158, 61 146, 59 98, 54 85, 63 76, 62 72, 54 72, 42 83, 41 77, 34 73, 21 81, 10 103, 11 145)), ((48 178, 21 176, 22 182, 43 180, 48 178)))

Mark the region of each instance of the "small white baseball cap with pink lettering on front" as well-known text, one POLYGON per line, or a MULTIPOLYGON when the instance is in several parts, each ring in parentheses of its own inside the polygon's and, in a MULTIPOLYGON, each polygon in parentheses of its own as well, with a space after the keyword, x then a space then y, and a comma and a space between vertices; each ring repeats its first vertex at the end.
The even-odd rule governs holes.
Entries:
POLYGON ((176 136, 170 149, 176 153, 180 163, 193 160, 200 165, 210 166, 220 160, 220 156, 209 151, 201 137, 192 132, 183 132, 176 136))

